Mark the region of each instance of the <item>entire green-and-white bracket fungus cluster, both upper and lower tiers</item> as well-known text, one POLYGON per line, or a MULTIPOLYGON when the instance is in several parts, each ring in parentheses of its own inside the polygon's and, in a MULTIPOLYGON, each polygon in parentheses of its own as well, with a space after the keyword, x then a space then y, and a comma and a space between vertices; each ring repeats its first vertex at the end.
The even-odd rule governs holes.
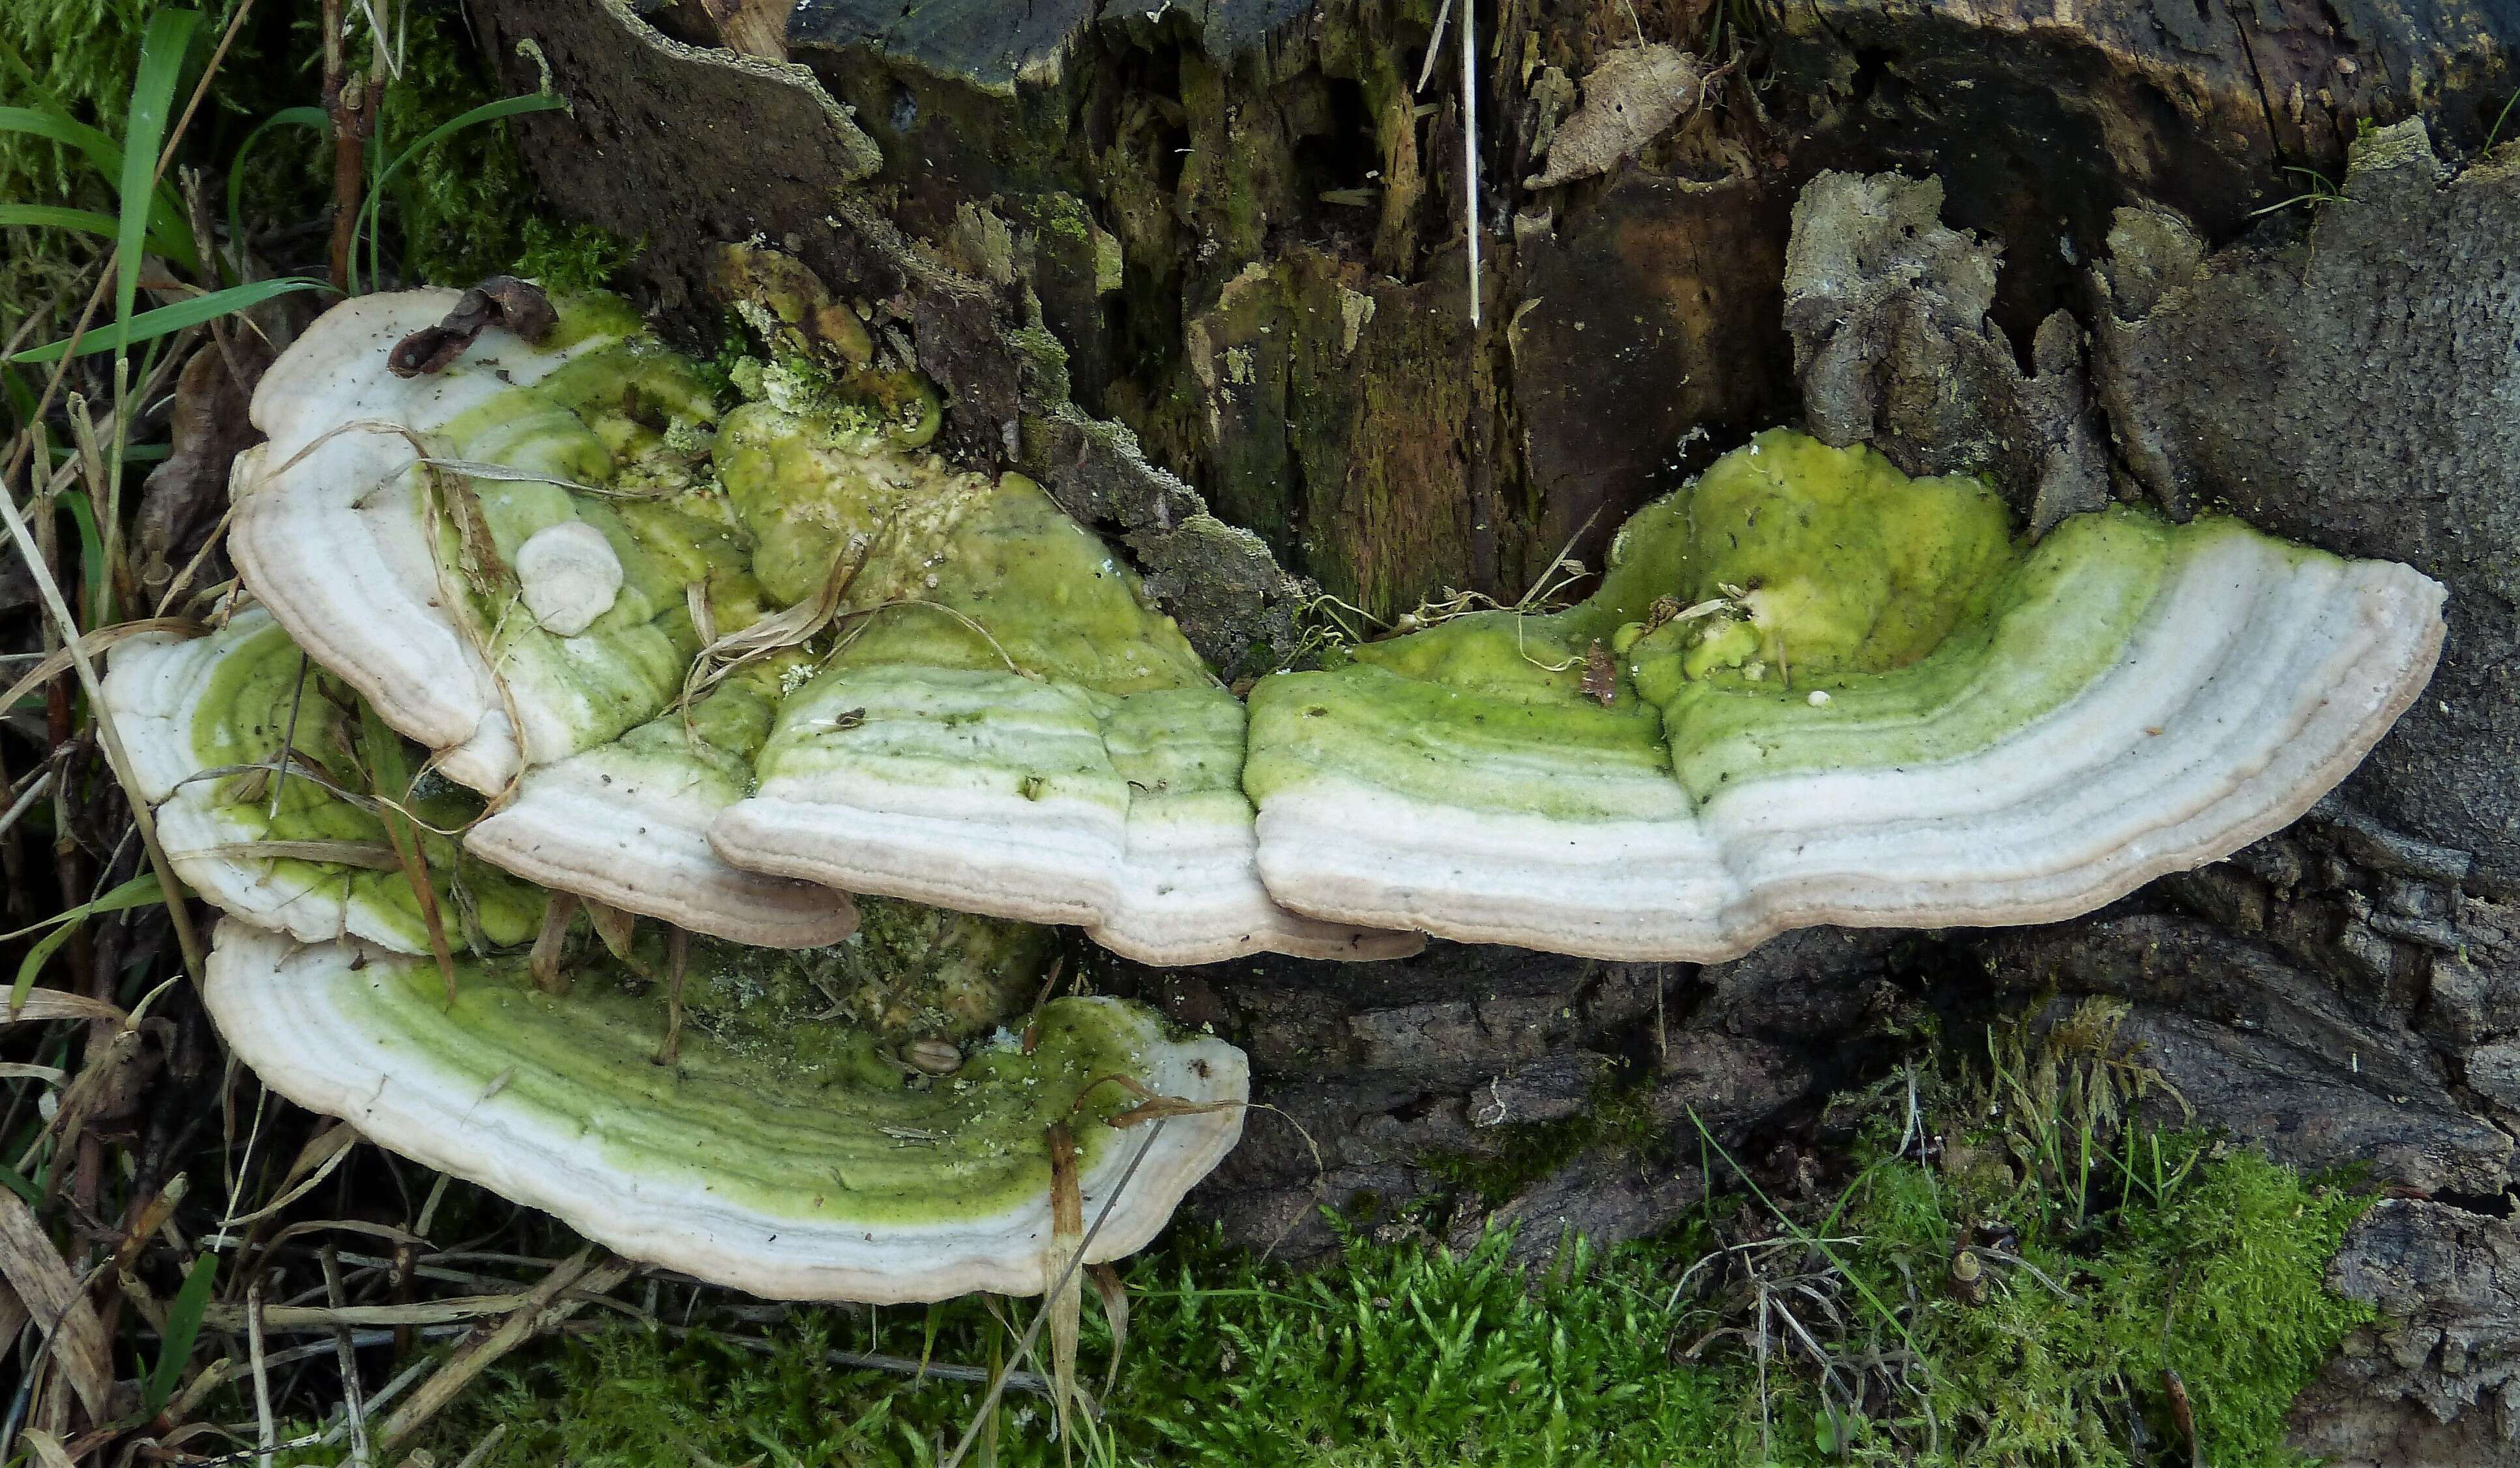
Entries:
POLYGON ((1041 1002, 1026 924, 1192 964, 2041 922, 2298 816, 2439 650, 2404 567, 2132 509, 2026 544, 1767 433, 1585 602, 1245 703, 1036 483, 925 453, 907 375, 494 305, 318 320, 237 463, 252 604, 106 692, 265 1080, 769 1294, 1038 1292, 1235 1143, 1242 1055, 1041 1002))

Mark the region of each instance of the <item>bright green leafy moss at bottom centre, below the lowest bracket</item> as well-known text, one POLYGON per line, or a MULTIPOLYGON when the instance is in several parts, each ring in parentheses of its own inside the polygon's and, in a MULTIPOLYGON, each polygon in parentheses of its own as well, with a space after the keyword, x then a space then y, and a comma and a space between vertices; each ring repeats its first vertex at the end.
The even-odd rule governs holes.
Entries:
MULTIPOLYGON (((1658 1259, 1646 1251, 1540 1292, 1504 1262, 1502 1239, 1462 1256, 1353 1241, 1328 1274, 1255 1267, 1192 1239, 1124 1269, 1137 1302, 1109 1415, 1061 1445, 1046 1403, 1013 1395, 995 1463, 1731 1465, 1744 1458, 1714 1448, 1751 1445, 1726 1372, 1666 1365, 1658 1259)), ((819 1314, 761 1355, 708 1337, 607 1335, 509 1370, 441 1433, 441 1458, 504 1423, 484 1468, 927 1465, 960 1438, 978 1387, 910 1387, 824 1352, 917 1360, 930 1319, 935 1360, 985 1362, 990 1340, 1003 1342, 978 1302, 930 1317, 819 1314)), ((1106 1350, 1089 1309, 1086 1370, 1106 1350)))

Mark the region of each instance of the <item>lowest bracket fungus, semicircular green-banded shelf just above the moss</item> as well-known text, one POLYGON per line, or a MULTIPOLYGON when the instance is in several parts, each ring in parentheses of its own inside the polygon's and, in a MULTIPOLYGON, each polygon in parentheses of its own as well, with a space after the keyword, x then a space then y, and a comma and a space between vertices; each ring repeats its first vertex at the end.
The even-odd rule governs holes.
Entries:
POLYGON ((920 1075, 819 1020, 811 985, 748 980, 741 952, 703 952, 685 995, 660 1063, 665 985, 617 964, 554 997, 519 959, 464 962, 449 1002, 426 959, 227 919, 204 982, 219 1032, 292 1100, 622 1254, 769 1297, 1041 1294, 1076 1251, 1053 1229, 1053 1126, 1076 1138, 1086 1216, 1111 1204, 1089 1262, 1142 1249, 1242 1133, 1242 1053, 1119 1000, 1053 1000, 1028 1040, 920 1075), (1111 1126, 1137 1105, 1114 1075, 1194 1110, 1111 1126))

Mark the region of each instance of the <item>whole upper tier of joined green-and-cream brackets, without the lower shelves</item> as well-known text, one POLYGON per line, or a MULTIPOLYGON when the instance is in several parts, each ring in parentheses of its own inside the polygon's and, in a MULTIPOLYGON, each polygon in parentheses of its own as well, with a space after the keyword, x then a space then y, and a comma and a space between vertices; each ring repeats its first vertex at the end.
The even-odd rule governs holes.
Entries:
POLYGON ((1038 486, 922 453, 915 383, 756 368, 721 413, 602 300, 393 378, 446 305, 348 302, 265 378, 244 579, 491 796, 469 851, 751 944, 834 942, 842 891, 1159 964, 2049 922, 2296 818, 2439 655, 2407 567, 2134 509, 2024 541, 1777 431, 1583 604, 1245 703, 1038 486))

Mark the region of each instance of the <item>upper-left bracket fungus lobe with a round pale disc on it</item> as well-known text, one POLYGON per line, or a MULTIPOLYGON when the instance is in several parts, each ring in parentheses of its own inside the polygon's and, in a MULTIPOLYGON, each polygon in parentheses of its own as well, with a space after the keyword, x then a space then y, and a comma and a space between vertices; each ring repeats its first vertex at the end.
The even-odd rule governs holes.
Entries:
POLYGON ((620 743, 680 692, 696 607, 759 614, 738 541, 708 496, 678 494, 670 438, 716 418, 708 385, 602 297, 539 342, 476 325, 436 370, 398 373, 396 345, 459 302, 358 297, 272 363, 252 405, 270 441, 234 471, 244 582, 438 771, 494 796, 474 854, 733 942, 837 942, 847 896, 708 851, 718 750, 620 743))

